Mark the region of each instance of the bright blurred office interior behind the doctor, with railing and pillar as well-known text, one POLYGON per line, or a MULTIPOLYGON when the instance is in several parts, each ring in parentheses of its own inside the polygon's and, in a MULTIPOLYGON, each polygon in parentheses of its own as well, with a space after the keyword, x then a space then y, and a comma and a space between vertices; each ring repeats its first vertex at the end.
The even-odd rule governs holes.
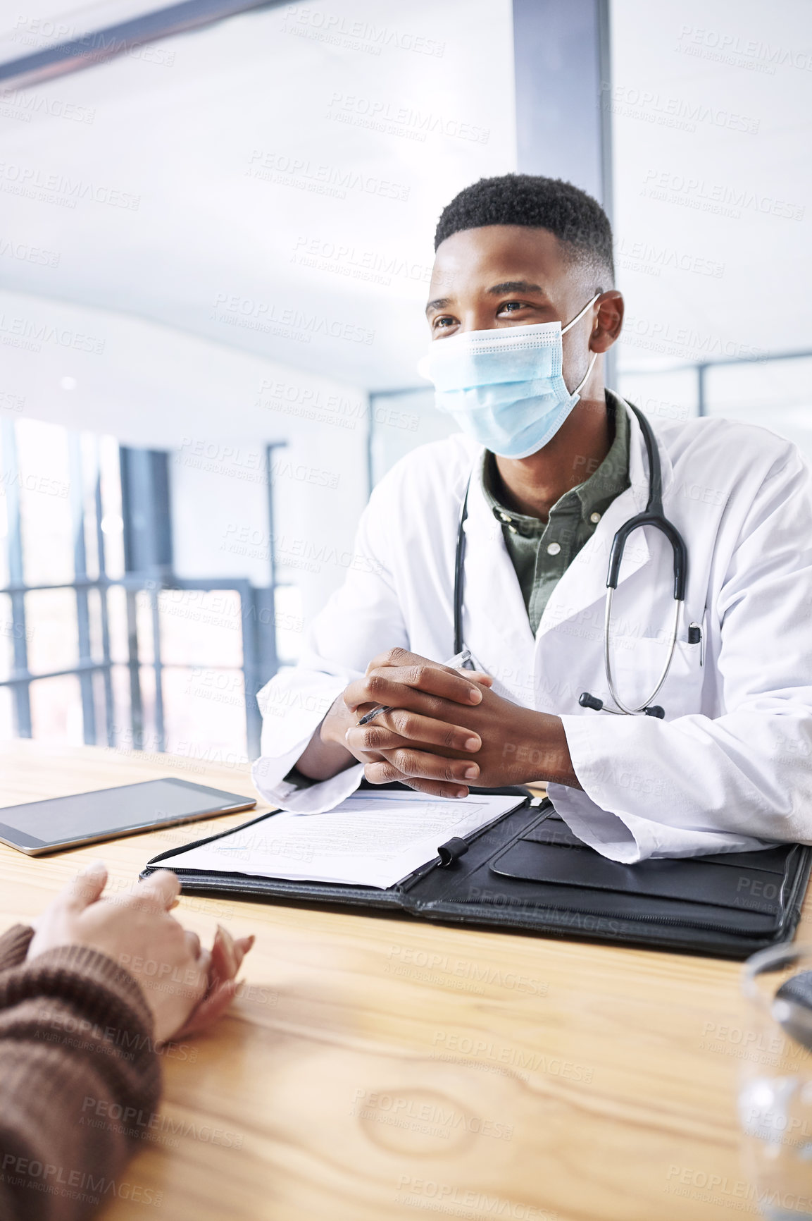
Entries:
POLYGON ((811 83, 808 0, 10 0, 0 735, 258 753, 369 488, 447 430, 432 238, 480 177, 601 199, 655 426, 812 457, 811 83))

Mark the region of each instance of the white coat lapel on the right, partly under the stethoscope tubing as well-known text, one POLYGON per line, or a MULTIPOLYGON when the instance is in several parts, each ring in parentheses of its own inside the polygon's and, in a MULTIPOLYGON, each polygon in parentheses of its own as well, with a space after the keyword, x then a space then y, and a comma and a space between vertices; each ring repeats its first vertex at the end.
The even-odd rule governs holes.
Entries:
MULTIPOLYGON (((673 481, 668 454, 658 446, 662 466, 663 492, 673 481)), ((606 597, 606 573, 616 531, 636 513, 643 513, 649 499, 649 459, 645 438, 636 415, 629 411, 629 480, 632 486, 616 497, 601 518, 591 538, 584 545, 564 571, 550 596, 536 639, 555 629, 567 619, 582 615, 596 602, 606 597)), ((646 529, 630 535, 623 552, 618 587, 649 563, 650 552, 646 529)), ((595 618, 591 615, 590 618, 595 618)), ((600 612, 602 626, 602 609, 600 612)), ((595 620, 597 623, 597 619, 595 620)))

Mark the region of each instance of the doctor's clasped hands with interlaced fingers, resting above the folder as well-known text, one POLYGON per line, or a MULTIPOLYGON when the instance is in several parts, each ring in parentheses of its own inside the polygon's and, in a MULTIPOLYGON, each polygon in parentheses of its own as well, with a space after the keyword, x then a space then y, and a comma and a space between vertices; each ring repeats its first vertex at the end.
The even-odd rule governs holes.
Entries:
POLYGON ((404 648, 380 653, 322 722, 322 741, 344 746, 371 784, 400 780, 438 797, 467 797, 533 779, 580 788, 558 717, 504 700, 493 679, 454 670, 404 648), (391 708, 367 725, 377 706, 391 708))

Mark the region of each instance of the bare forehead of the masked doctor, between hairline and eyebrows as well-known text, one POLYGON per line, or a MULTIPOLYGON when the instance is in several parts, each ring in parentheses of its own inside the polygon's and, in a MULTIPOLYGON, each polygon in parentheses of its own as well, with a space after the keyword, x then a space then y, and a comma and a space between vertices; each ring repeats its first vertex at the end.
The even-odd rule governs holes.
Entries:
POLYGON ((484 293, 501 284, 522 284, 524 292, 554 297, 572 282, 573 274, 572 260, 549 230, 523 225, 461 230, 436 249, 429 303, 484 293))

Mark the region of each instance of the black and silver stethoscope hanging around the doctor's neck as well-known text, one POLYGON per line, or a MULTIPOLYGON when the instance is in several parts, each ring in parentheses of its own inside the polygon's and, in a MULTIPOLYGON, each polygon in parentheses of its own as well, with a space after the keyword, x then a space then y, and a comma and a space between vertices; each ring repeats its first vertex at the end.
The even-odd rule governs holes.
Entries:
MULTIPOLYGON (((612 540, 612 551, 610 552, 608 562, 608 574, 606 578, 606 610, 604 615, 604 665, 606 668, 606 681, 612 696, 612 700, 617 705, 616 708, 606 708, 602 700, 597 696, 590 695, 589 691, 582 691, 578 697, 578 703, 582 708, 593 708, 595 712, 612 712, 617 716, 634 717, 643 713, 646 717, 658 717, 661 720, 666 716, 663 708, 660 705, 652 703, 652 700, 662 687, 663 683, 668 678, 668 672, 671 669, 671 663, 674 657, 674 648, 677 647, 677 631, 679 629, 679 617, 685 602, 685 581, 688 579, 688 548, 685 547, 685 541, 680 535, 677 526, 668 520, 662 509, 662 468, 660 465, 660 453, 657 451, 657 441, 655 438, 651 425, 646 420, 643 411, 639 411, 636 407, 632 403, 627 404, 632 411, 638 418, 640 429, 643 431, 643 440, 646 444, 646 453, 649 455, 649 501, 643 513, 638 513, 634 518, 629 518, 624 521, 621 529, 614 535, 612 540), (617 691, 617 684, 614 681, 614 675, 612 673, 612 650, 611 650, 611 636, 612 636, 612 598, 617 589, 617 582, 621 573, 621 562, 623 560, 623 551, 625 548, 627 540, 629 535, 638 530, 640 526, 654 526, 655 530, 660 530, 661 534, 666 536, 671 543, 671 549, 674 556, 674 618, 671 626, 671 641, 668 645, 668 656, 666 663, 662 668, 662 673, 657 679, 657 684, 651 692, 651 695, 639 703, 636 707, 630 707, 624 703, 617 691)), ((468 477, 468 484, 466 486, 466 495, 462 498, 462 505, 460 508, 460 524, 457 526, 457 549, 454 562, 454 652, 455 656, 461 653, 463 650, 462 643, 462 603, 465 593, 465 554, 466 554, 466 532, 465 523, 468 516, 468 492, 471 490, 471 477, 468 477)), ((699 626, 691 624, 693 629, 699 632, 699 626)), ((690 639, 691 643, 699 641, 690 639)), ((463 663, 466 669, 474 669, 473 661, 466 661, 463 663)))

